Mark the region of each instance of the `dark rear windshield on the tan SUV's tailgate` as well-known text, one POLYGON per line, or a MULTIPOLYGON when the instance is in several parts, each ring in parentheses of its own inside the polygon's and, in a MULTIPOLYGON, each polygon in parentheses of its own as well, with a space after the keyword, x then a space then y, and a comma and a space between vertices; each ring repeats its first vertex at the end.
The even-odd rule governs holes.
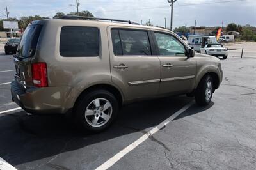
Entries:
POLYGON ((38 24, 29 24, 26 30, 24 31, 22 38, 20 40, 20 45, 17 50, 17 54, 22 57, 31 57, 35 54, 36 45, 38 42, 38 37, 42 25, 38 24))

